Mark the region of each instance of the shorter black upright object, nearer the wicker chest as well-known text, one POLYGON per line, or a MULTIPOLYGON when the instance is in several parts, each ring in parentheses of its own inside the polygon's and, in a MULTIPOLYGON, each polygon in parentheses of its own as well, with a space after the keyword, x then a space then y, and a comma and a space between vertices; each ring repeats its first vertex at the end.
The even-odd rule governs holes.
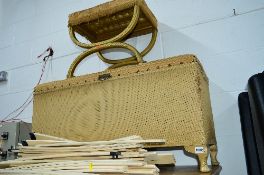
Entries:
POLYGON ((238 106, 247 163, 247 172, 249 175, 261 175, 249 97, 247 92, 242 92, 239 94, 238 106))

